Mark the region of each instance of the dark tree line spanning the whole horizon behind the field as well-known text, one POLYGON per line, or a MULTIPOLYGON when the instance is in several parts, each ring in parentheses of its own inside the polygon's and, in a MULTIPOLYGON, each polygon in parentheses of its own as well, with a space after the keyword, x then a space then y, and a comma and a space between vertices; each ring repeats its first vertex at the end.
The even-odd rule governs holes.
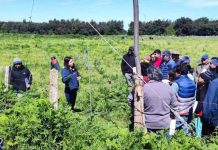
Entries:
MULTIPOLYGON (((123 21, 110 20, 107 22, 90 21, 103 35, 128 34, 133 35, 133 22, 128 30, 124 30, 123 21)), ((88 22, 78 19, 57 20, 34 23, 27 22, 0 22, 0 32, 4 33, 34 33, 34 34, 81 34, 96 35, 96 31, 88 22)), ((218 20, 209 20, 207 17, 192 20, 181 17, 175 21, 154 20, 139 22, 140 35, 176 35, 176 36, 212 36, 218 35, 218 20)))

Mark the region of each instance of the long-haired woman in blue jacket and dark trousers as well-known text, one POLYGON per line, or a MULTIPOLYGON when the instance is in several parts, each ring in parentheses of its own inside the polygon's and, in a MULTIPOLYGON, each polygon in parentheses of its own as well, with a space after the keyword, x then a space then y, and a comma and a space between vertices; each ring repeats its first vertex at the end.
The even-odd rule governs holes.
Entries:
POLYGON ((74 108, 76 103, 77 91, 79 89, 79 81, 81 79, 79 72, 77 71, 72 57, 64 58, 64 68, 62 69, 62 81, 65 84, 65 96, 67 101, 71 105, 71 109, 74 108))

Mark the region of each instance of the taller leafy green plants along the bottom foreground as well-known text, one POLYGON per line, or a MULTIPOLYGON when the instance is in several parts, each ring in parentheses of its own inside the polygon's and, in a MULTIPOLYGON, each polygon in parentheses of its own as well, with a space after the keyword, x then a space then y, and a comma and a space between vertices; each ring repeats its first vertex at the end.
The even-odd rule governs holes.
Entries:
MULTIPOLYGON (((168 139, 167 131, 158 134, 144 134, 140 129, 129 132, 117 120, 122 117, 117 113, 125 112, 122 108, 115 114, 108 110, 72 113, 64 100, 59 103, 58 111, 54 111, 48 99, 31 98, 31 92, 19 100, 14 93, 1 95, 0 135, 5 149, 218 148, 216 136, 198 139, 180 131, 168 139)), ((101 105, 108 107, 103 102, 101 105)))

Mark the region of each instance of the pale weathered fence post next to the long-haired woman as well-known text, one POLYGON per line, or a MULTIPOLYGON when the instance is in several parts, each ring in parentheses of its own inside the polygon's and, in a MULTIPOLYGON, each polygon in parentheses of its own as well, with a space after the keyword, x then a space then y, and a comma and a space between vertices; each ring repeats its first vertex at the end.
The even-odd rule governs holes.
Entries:
POLYGON ((58 70, 56 69, 51 69, 50 71, 49 99, 54 107, 54 110, 58 110, 58 70))

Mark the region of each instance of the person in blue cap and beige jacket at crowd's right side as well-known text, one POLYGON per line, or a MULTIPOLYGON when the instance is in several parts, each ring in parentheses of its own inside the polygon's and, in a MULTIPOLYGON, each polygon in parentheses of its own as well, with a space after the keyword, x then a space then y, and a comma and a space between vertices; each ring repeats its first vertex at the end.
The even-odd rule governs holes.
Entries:
POLYGON ((207 54, 201 56, 201 63, 194 69, 194 81, 198 83, 198 77, 201 73, 205 72, 210 65, 209 57, 207 54))

